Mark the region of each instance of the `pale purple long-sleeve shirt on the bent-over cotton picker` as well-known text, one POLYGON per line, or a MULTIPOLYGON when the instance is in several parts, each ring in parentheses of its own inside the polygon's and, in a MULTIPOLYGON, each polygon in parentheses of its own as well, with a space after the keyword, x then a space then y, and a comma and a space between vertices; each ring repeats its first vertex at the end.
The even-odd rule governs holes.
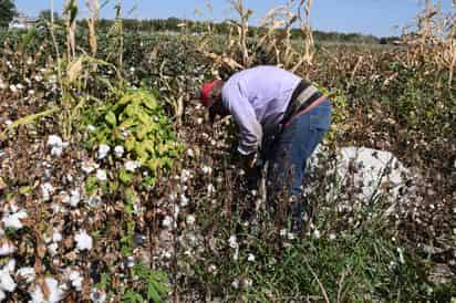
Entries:
POLYGON ((301 79, 276 66, 234 74, 224 85, 222 104, 239 127, 238 150, 250 155, 273 135, 301 79))

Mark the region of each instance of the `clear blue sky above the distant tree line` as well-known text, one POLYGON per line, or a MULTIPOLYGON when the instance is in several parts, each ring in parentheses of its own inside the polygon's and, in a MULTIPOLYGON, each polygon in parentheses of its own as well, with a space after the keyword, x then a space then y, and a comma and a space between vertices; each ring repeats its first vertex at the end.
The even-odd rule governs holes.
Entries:
MULTIPOLYGON (((87 10, 81 3, 81 15, 87 10)), ((441 0, 444 12, 452 11, 453 0, 441 0)), ((64 0, 54 0, 56 9, 63 8, 64 0)), ((104 2, 104 0, 100 0, 104 2)), ((117 0, 111 0, 102 11, 102 17, 113 18, 117 0)), ((125 18, 187 18, 222 21, 234 17, 227 0, 123 0, 125 18), (211 3, 213 11, 207 9, 211 3), (195 9, 203 11, 195 14, 195 9)), ((437 1, 435 1, 437 2, 437 1)), ((41 10, 49 9, 51 0, 15 0, 19 11, 31 17, 41 10)), ((266 12, 286 0, 245 0, 246 7, 253 10, 251 23, 259 22, 266 12)), ((313 0, 311 25, 314 30, 357 32, 376 36, 400 35, 404 25, 414 23, 417 12, 423 8, 424 0, 313 0)), ((453 9, 453 11, 455 11, 453 9)))

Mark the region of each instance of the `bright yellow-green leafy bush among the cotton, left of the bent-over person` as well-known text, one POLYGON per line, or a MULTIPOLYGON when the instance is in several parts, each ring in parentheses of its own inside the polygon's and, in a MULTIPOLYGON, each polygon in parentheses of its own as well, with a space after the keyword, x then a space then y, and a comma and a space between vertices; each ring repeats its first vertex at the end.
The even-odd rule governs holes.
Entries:
MULTIPOLYGON (((173 159, 183 147, 154 92, 127 90, 117 96, 113 105, 99 108, 91 142, 123 145, 127 158, 151 170, 148 180, 153 185, 156 176, 173 167, 173 159)), ((118 174, 121 181, 132 182, 133 171, 122 168, 118 174)))

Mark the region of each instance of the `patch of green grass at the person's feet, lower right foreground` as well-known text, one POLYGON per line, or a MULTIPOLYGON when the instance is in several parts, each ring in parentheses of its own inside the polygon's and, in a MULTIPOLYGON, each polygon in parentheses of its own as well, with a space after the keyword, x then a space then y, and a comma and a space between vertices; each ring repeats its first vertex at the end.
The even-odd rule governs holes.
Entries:
MULTIPOLYGON (((324 209, 320 212, 319 218, 333 216, 324 209)), ((379 222, 383 219, 366 220, 357 229, 334 236, 329 231, 331 223, 315 222, 319 234, 309 231, 289 238, 274 232, 267 221, 255 229, 236 218, 215 219, 227 222, 214 231, 219 236, 215 236, 215 251, 195 259, 179 257, 193 269, 187 285, 206 297, 228 302, 449 302, 456 295, 454 286, 428 281, 431 263, 403 248, 387 232, 387 223, 379 222), (239 222, 236 233, 234 221, 239 222), (238 251, 228 244, 232 234, 238 251)))

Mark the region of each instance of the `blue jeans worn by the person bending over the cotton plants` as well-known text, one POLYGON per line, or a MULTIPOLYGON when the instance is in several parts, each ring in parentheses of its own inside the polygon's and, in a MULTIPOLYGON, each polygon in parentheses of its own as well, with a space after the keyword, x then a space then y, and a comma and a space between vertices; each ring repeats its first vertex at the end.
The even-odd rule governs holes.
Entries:
POLYGON ((267 185, 268 203, 278 203, 283 197, 294 197, 292 212, 301 228, 302 181, 308 158, 321 143, 331 125, 331 103, 324 101, 308 113, 296 117, 266 152, 269 161, 267 185))

